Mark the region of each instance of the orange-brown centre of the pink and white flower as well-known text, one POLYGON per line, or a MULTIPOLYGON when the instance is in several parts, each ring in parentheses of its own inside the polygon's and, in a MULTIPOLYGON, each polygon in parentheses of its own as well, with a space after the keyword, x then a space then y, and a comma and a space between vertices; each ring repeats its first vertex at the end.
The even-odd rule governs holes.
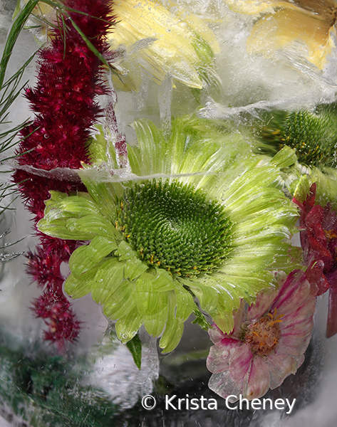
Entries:
POLYGON ((261 317, 257 322, 248 325, 246 333, 244 334, 244 341, 251 344, 252 352, 258 356, 267 356, 271 353, 281 337, 281 327, 279 325, 281 316, 276 316, 276 309, 274 314, 268 313, 266 316, 261 317))

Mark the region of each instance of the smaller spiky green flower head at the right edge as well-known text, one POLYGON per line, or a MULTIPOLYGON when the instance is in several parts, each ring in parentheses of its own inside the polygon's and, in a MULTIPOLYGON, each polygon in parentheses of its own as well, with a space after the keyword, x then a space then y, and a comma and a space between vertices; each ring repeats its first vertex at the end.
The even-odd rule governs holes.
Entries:
POLYGON ((314 111, 274 111, 260 132, 256 150, 275 154, 284 145, 296 150, 299 163, 308 167, 337 164, 337 114, 334 105, 314 111))

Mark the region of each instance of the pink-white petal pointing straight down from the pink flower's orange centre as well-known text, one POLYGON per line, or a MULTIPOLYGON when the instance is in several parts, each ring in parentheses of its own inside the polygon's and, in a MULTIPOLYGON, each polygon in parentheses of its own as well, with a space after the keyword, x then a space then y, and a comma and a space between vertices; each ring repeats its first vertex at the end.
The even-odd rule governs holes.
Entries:
POLYGON ((259 399, 269 390, 270 374, 269 366, 263 357, 254 357, 247 376, 244 378, 242 395, 244 398, 252 400, 259 399))

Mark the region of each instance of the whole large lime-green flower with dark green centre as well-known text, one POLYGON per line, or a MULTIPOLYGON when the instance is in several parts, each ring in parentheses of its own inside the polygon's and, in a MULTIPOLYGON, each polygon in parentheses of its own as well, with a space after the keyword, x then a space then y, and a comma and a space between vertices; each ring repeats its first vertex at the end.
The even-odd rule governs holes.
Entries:
POLYGON ((95 163, 81 172, 88 194, 51 191, 38 228, 90 240, 71 255, 69 295, 91 292, 105 315, 118 320, 122 342, 144 324, 170 352, 194 297, 230 332, 240 299, 253 302, 272 284, 269 269, 286 268, 284 238, 297 212, 275 183, 279 168, 295 156, 285 147, 259 164, 239 134, 190 117, 173 120, 169 139, 150 120, 135 122, 135 131, 132 174, 120 173, 115 152, 96 136, 90 145, 95 163))

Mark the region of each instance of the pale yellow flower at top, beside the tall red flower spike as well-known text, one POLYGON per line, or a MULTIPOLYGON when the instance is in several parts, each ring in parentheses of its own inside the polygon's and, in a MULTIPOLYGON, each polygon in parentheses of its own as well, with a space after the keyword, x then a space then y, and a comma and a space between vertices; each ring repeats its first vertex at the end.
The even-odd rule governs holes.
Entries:
POLYGON ((204 70, 212 68, 213 53, 219 51, 204 21, 176 4, 165 8, 158 0, 119 0, 114 12, 116 25, 109 41, 113 49, 124 48, 126 53, 121 79, 114 80, 118 89, 138 90, 142 70, 157 84, 170 74, 190 88, 202 88, 204 70))

